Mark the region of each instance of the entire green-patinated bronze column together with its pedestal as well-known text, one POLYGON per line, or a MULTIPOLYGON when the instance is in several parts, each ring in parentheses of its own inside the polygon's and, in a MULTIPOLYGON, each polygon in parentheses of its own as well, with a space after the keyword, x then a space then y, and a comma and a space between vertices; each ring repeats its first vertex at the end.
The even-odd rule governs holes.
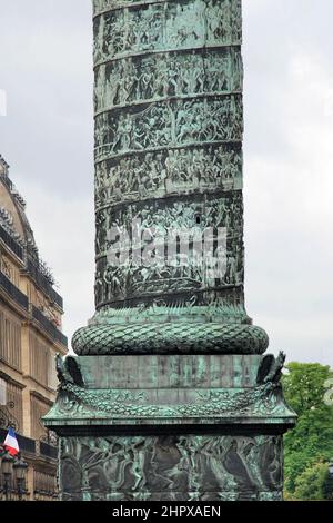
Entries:
POLYGON ((295 416, 244 307, 241 0, 93 9, 97 312, 44 418, 62 499, 280 500, 295 416))

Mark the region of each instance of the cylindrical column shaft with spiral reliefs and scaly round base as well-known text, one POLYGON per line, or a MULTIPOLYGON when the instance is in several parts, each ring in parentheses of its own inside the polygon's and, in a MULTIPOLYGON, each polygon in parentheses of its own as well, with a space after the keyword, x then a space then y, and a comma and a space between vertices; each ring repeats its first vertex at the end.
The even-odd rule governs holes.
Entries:
POLYGON ((97 314, 77 354, 268 348, 244 309, 241 40, 239 0, 94 2, 97 314), (224 273, 110 265, 108 231, 133 220, 225 228, 224 273))

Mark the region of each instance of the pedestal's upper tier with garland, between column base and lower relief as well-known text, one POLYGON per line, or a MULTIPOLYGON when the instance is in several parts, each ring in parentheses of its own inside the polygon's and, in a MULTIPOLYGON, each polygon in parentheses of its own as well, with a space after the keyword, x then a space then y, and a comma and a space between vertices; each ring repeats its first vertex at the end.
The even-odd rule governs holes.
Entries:
POLYGON ((161 418, 202 424, 216 416, 244 416, 251 423, 271 417, 275 424, 292 424, 294 414, 280 385, 283 363, 282 354, 278 359, 234 356, 232 361, 224 355, 159 356, 143 362, 140 356, 125 356, 122 361, 81 357, 79 363, 68 357, 62 363, 59 357, 59 397, 47 418, 53 423, 60 418, 60 424, 75 418, 77 425, 79 420, 84 425, 88 418, 113 425, 119 421, 159 424, 161 418))

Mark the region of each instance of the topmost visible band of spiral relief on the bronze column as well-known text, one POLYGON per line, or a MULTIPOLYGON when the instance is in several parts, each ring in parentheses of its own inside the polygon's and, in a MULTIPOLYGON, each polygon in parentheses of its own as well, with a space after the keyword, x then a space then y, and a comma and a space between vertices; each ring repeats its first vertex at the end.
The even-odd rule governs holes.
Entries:
POLYGON ((140 10, 114 9, 95 19, 95 61, 151 49, 239 45, 240 20, 240 0, 147 2, 140 10))

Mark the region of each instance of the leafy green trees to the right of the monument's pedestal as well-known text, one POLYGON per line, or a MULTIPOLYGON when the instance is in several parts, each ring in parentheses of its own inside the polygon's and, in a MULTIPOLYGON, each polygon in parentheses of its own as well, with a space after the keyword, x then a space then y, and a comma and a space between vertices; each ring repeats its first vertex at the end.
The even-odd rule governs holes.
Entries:
MULTIPOLYGON (((285 490, 289 495, 300 499, 301 491, 305 492, 304 486, 300 490, 300 478, 304 482, 311 474, 320 474, 319 464, 325 463, 327 470, 333 456, 333 408, 324 403, 325 382, 333 373, 320 364, 290 363, 286 368, 284 394, 299 421, 284 438, 285 490)), ((321 495, 324 496, 323 492, 321 495)))

